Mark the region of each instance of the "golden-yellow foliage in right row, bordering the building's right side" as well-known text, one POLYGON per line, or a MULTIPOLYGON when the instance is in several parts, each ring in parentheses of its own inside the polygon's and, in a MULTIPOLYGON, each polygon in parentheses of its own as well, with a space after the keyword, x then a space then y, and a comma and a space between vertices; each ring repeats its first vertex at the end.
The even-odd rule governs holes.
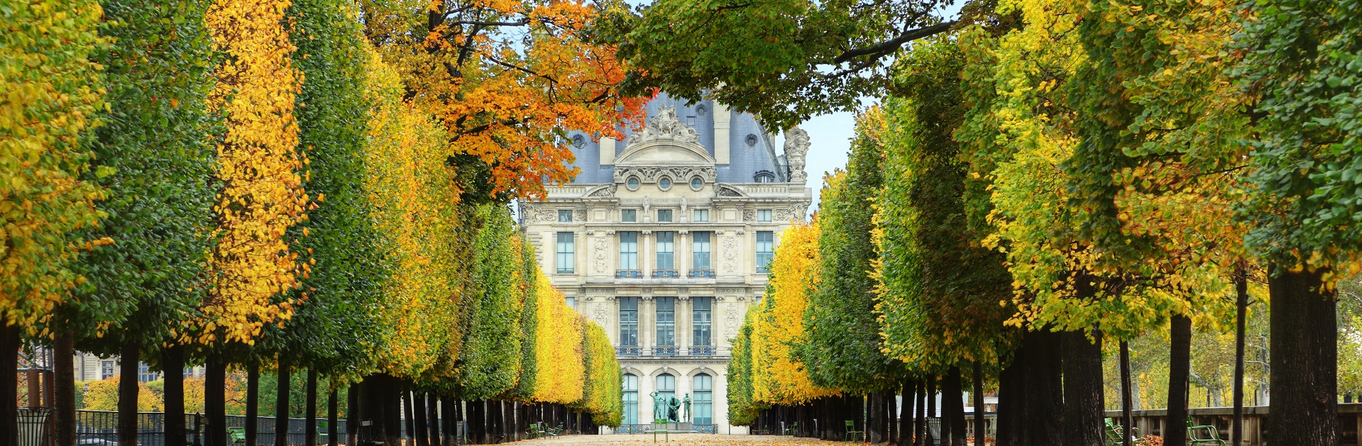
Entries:
POLYGON ((771 261, 767 295, 752 313, 752 398, 765 404, 804 404, 836 389, 814 386, 790 344, 804 339, 804 309, 819 286, 819 223, 795 223, 780 234, 771 261))

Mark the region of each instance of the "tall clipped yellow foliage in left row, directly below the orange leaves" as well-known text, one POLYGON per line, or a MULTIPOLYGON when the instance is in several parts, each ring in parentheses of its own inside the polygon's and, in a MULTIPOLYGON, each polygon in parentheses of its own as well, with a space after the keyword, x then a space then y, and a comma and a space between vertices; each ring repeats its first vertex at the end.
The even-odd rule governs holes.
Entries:
MULTIPOLYGON (((444 129, 426 114, 403 103, 398 73, 369 50, 373 105, 365 154, 365 189, 373 205, 391 277, 384 283, 380 371, 417 378, 445 364, 440 375, 454 375, 462 334, 456 305, 458 277, 466 276, 469 245, 458 234, 464 227, 449 185, 444 158, 444 129)), ((475 231, 462 231, 475 233, 475 231)))

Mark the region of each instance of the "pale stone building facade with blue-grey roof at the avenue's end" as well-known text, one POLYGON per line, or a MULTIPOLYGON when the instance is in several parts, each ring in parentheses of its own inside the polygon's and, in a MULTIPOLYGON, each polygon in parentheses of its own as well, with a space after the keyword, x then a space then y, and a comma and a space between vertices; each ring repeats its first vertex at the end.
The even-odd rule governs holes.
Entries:
MULTIPOLYGON (((808 135, 776 152, 749 114, 659 95, 624 140, 573 133, 571 184, 522 201, 522 227, 569 306, 610 334, 625 423, 654 420, 650 394, 692 400, 696 430, 727 424, 726 366, 765 291, 780 233, 808 216, 808 135)), ((658 415, 661 417, 661 415, 658 415)))

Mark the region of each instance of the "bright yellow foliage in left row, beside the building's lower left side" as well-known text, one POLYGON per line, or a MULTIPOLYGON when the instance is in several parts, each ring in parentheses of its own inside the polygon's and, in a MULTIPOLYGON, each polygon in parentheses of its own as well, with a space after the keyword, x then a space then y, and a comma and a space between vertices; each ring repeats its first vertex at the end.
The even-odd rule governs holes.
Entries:
POLYGON ((534 333, 535 363, 534 401, 571 404, 582 400, 586 364, 582 362, 582 328, 586 321, 568 307, 563 292, 539 272, 539 326, 534 333))

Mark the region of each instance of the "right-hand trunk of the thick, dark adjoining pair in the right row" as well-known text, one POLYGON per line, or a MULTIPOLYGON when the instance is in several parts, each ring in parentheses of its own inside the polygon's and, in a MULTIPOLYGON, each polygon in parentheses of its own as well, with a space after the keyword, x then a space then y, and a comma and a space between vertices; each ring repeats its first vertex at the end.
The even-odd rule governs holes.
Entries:
MULTIPOLYGON (((1064 332, 1064 445, 1103 446, 1102 333, 1064 332)), ((1170 443, 1181 445, 1181 443, 1170 443)))

